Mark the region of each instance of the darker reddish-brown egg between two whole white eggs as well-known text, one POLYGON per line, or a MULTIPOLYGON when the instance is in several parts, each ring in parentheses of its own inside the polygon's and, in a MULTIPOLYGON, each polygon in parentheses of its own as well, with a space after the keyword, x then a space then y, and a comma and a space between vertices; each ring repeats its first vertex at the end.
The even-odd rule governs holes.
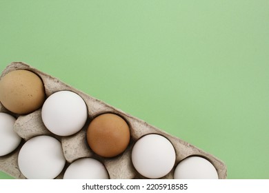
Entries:
POLYGON ((90 123, 87 141, 90 148, 99 156, 117 156, 124 152, 129 144, 129 126, 117 114, 101 114, 90 123))

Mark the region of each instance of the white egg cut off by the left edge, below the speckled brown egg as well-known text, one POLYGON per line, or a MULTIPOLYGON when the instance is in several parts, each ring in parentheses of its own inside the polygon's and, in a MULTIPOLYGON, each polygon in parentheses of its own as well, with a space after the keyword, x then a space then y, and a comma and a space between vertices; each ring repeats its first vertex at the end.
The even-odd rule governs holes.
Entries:
POLYGON ((21 143, 21 137, 13 130, 15 121, 10 114, 0 112, 0 156, 13 152, 21 143))

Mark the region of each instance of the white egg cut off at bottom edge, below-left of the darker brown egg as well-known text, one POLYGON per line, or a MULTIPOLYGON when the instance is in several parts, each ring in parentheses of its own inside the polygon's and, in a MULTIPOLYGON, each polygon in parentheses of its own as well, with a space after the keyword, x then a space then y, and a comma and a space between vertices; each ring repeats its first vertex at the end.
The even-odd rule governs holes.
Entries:
POLYGON ((63 179, 109 179, 109 176, 101 162, 92 158, 83 158, 69 165, 63 179))

